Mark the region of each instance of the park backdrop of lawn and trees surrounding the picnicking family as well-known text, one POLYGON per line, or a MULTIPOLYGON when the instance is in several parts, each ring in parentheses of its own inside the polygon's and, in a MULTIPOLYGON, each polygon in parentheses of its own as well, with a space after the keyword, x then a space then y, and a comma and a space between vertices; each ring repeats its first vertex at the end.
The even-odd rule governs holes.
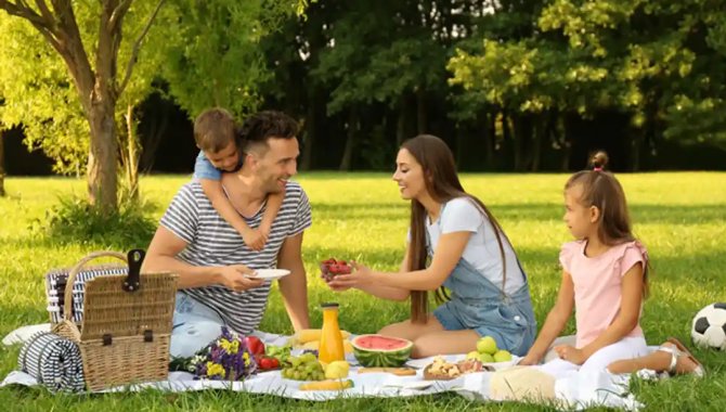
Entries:
MULTIPOLYGON (((726 1, 59 0, 0 9, 10 12, 0 10, 0 334, 47 321, 50 268, 148 244, 190 179, 192 119, 213 105, 239 119, 274 108, 301 123, 297 180, 313 206, 303 249, 313 324, 315 305, 330 299, 356 333, 406 317, 405 304, 335 295, 315 274, 330 256, 398 267, 407 204, 389 179, 399 144, 423 132, 448 142, 467 191, 501 220, 532 280, 540 324, 569 240, 561 189, 596 149, 610 154, 652 257, 648 340, 687 342, 696 311, 726 300, 726 1)), ((276 289, 261 327, 291 333, 276 289)), ((15 368, 17 350, 0 348, 0 375, 15 368)), ((638 399, 653 410, 726 410, 717 396, 723 352, 696 355, 709 379, 635 382, 638 399)), ((0 405, 478 404, 454 395, 320 404, 7 388, 0 405)))

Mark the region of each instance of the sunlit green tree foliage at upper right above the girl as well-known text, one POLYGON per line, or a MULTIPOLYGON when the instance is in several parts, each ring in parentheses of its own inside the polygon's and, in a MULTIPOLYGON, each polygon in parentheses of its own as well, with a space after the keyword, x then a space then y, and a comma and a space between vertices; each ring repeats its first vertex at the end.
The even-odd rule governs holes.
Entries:
POLYGON ((726 2, 554 0, 531 22, 522 38, 490 30, 457 50, 452 85, 517 115, 627 113, 635 165, 645 139, 726 147, 726 2))

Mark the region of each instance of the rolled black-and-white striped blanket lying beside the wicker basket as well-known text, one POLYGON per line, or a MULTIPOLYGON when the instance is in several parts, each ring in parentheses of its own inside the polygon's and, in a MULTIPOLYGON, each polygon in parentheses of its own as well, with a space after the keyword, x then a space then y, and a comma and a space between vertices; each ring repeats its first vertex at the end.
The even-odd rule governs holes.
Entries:
POLYGON ((86 388, 78 345, 54 333, 33 335, 21 349, 17 366, 52 392, 86 388))

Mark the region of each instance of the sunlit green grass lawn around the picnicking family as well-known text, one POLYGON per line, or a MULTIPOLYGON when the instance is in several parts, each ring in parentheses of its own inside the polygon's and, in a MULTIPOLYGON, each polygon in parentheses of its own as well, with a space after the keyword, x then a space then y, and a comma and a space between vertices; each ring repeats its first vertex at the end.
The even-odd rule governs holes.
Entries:
MULTIPOLYGON (((654 271, 643 327, 650 344, 674 335, 689 342, 691 317, 713 301, 726 301, 726 173, 647 173, 619 176, 628 195, 635 231, 647 245, 654 271)), ((158 219, 187 177, 142 179, 142 193, 156 204, 158 219)), ((532 285, 540 323, 555 300, 559 282, 557 255, 569 241, 561 222, 565 175, 465 175, 464 185, 492 209, 519 252, 532 285)), ((310 196, 313 227, 307 231, 303 259, 309 273, 311 321, 320 325, 317 305, 341 304, 342 327, 375 332, 406 318, 405 304, 381 302, 356 292, 335 295, 315 278, 316 262, 327 257, 355 258, 377 269, 393 270, 403 250, 407 203, 400 199, 389 175, 310 173, 298 178, 310 196)), ((17 326, 47 322, 42 275, 50 268, 73 265, 102 244, 60 244, 38 239, 29 229, 57 196, 83 194, 85 182, 62 179, 9 178, 9 197, 0 198, 0 335, 17 326)), ((127 247, 146 245, 128 244, 127 247)), ((290 333, 282 300, 273 291, 261 329, 290 333)), ((570 331, 572 326, 570 325, 570 331)), ((0 348, 0 376, 15 369, 18 348, 0 348)), ((648 410, 726 410, 726 353, 696 350, 709 378, 678 377, 660 383, 636 382, 634 389, 648 410)), ((121 365, 119 365, 121 366, 121 365)), ((356 410, 425 411, 544 410, 514 403, 474 403, 455 395, 409 399, 304 402, 273 396, 226 391, 191 394, 122 394, 53 396, 37 388, 0 389, 0 410, 356 410)))

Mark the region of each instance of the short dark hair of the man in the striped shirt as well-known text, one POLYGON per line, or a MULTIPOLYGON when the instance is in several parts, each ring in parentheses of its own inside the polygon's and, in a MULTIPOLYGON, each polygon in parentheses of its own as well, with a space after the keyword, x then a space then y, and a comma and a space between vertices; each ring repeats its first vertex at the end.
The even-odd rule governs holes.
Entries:
POLYGON ((295 139, 297 134, 298 123, 290 116, 275 111, 258 112, 249 116, 238 130, 244 152, 260 143, 267 146, 268 140, 272 138, 295 139))

